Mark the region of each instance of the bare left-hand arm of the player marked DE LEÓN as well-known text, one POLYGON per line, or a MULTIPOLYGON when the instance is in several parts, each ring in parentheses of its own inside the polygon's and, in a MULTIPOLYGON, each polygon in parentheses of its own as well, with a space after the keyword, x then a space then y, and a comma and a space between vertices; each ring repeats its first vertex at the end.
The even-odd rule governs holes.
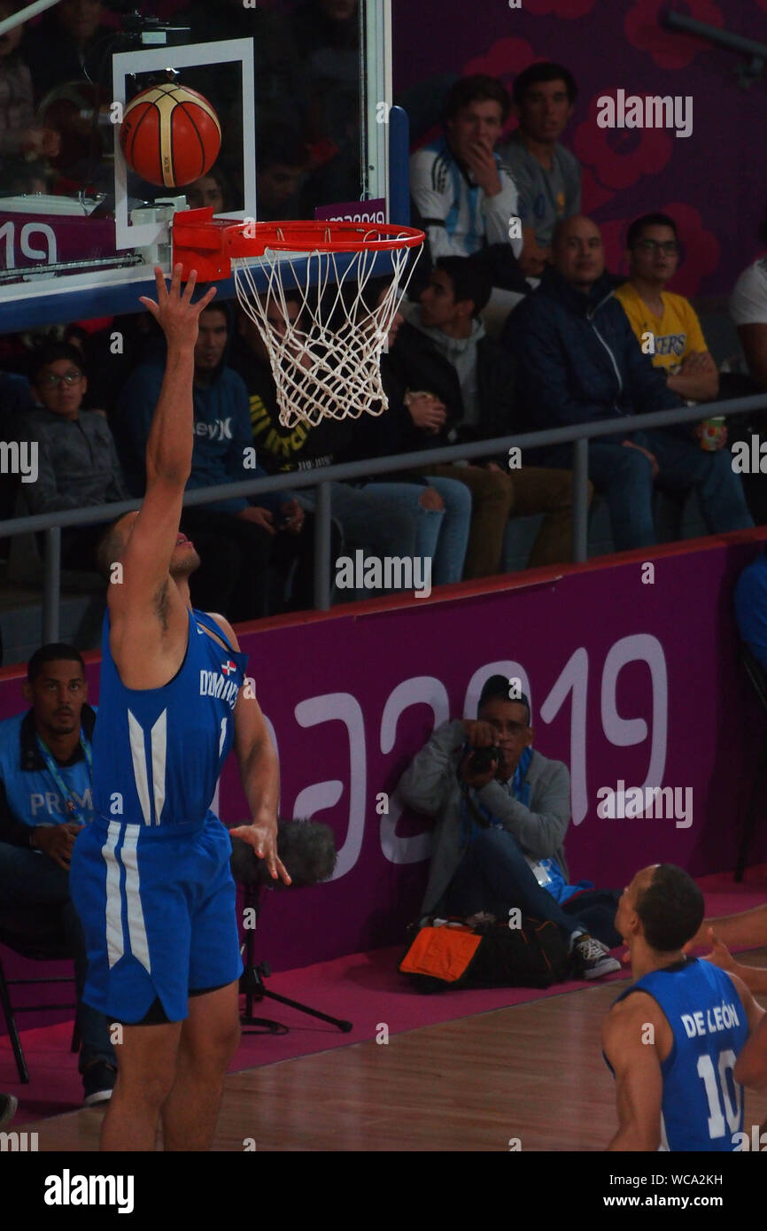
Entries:
POLYGON ((634 992, 604 1018, 602 1050, 616 1075, 619 1128, 608 1151, 657 1150, 664 1080, 655 1045, 661 1027, 655 1001, 634 992))

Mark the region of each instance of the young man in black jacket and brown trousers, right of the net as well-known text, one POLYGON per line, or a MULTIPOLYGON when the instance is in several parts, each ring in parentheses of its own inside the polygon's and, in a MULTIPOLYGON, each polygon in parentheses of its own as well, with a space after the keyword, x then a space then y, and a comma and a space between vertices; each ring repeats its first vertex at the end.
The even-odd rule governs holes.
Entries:
MULTIPOLYGON (((399 453, 428 444, 492 439, 516 430, 515 362, 508 347, 486 336, 479 318, 489 294, 488 276, 474 259, 437 259, 420 307, 410 313, 410 324, 403 325, 383 361, 387 391, 394 403, 406 401, 411 422, 404 423, 405 432, 400 435, 394 425, 389 426, 387 416, 380 428, 373 420, 368 432, 378 430, 387 437, 379 449, 399 453), (427 390, 433 396, 428 399, 412 390, 427 390), (430 414, 437 416, 433 423, 430 414), (416 426, 420 417, 422 427, 416 426)), ((399 422, 404 422, 401 412, 399 422)), ((467 577, 486 577, 501 570, 510 513, 544 515, 529 567, 572 558, 569 470, 523 465, 510 473, 506 454, 483 465, 435 465, 425 473, 458 479, 472 490, 467 577)))

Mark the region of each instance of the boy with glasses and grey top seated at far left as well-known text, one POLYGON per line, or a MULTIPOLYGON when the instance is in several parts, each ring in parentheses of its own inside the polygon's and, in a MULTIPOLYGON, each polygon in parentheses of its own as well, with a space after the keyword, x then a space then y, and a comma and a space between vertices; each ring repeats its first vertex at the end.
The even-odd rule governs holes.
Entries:
MULTIPOLYGON (((25 484, 27 511, 50 513, 129 500, 105 415, 82 409, 87 391, 82 353, 66 342, 43 346, 32 357, 30 382, 36 405, 18 430, 23 438, 37 441, 38 476, 25 484)), ((65 528, 64 567, 95 570, 102 529, 103 523, 65 528)))

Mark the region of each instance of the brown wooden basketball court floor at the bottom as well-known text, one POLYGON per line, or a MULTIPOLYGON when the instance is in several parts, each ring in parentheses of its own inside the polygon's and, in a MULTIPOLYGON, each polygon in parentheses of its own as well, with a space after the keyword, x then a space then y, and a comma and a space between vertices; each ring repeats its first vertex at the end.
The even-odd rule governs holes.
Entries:
MULTIPOLYGON (((767 948, 739 954, 767 966, 767 948)), ((283 1060, 227 1077, 217 1151, 603 1150, 617 1128, 601 1022, 627 984, 283 1060), (518 1141, 518 1146, 516 1142, 518 1141)), ((760 1001, 767 1007, 767 997, 760 1001)), ((102 1112, 34 1124, 41 1151, 94 1151, 102 1112)), ((767 1118, 746 1092, 744 1128, 767 1118)))

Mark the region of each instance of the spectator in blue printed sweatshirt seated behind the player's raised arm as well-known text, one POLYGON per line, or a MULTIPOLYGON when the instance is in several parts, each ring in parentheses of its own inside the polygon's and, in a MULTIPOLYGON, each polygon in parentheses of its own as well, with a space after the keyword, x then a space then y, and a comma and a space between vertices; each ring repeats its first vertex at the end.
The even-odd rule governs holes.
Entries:
MULTIPOLYGON (((227 303, 211 304, 199 316, 195 347, 195 449, 188 490, 266 476, 255 464, 247 391, 238 373, 227 364, 230 326, 231 309, 227 303)), ((147 441, 164 372, 164 363, 142 363, 117 399, 114 435, 135 496, 143 495, 145 487, 147 441)), ((219 500, 185 508, 181 516, 181 529, 192 534, 196 543, 201 534, 213 534, 239 553, 227 613, 233 620, 256 619, 267 613, 271 560, 286 566, 298 561, 295 602, 311 606, 310 523, 288 492, 261 496, 257 505, 244 496, 219 500)))

